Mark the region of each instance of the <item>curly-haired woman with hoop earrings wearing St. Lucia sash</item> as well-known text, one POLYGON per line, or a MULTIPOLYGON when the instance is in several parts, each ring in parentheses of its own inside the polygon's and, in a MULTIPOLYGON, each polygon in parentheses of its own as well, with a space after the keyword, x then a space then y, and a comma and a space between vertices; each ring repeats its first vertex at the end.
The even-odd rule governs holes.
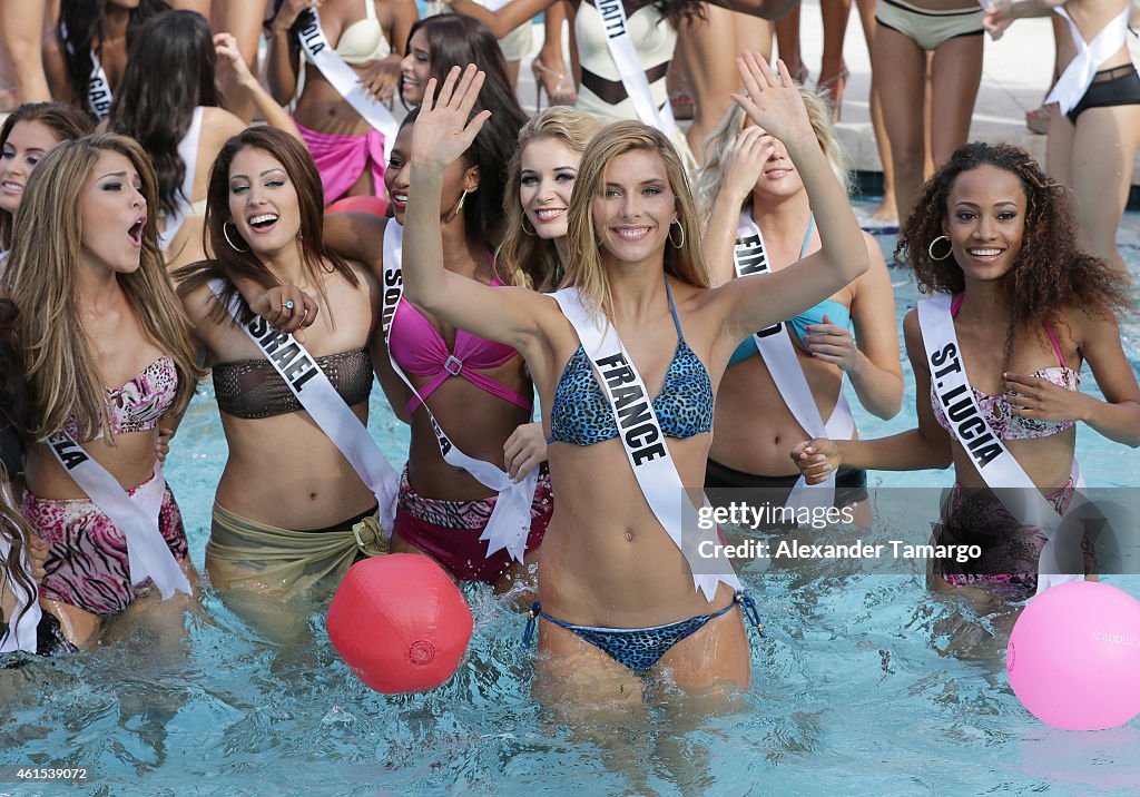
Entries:
POLYGON ((936 588, 1032 595, 1045 534, 1019 520, 990 488, 1013 486, 1015 467, 1020 469, 1064 514, 1076 487, 1077 421, 1117 442, 1140 445, 1140 388, 1115 318, 1130 306, 1127 294, 1119 273, 1081 252, 1073 233, 1065 189, 1024 151, 987 144, 959 148, 927 182, 896 250, 911 263, 920 290, 937 294, 927 300, 935 303, 912 310, 903 322, 918 429, 879 440, 815 439, 792 449, 808 481, 841 465, 922 470, 953 463, 955 483, 943 506, 942 531, 954 542, 984 543, 985 554, 967 572, 940 564, 936 588), (920 326, 923 307, 937 308, 937 315, 931 311, 920 326), (1080 391, 1082 360, 1105 400, 1080 391), (971 384, 955 374, 972 383, 972 401, 960 398, 969 396, 971 384), (1004 442, 1012 465, 994 438, 1004 442), (1009 474, 999 483, 988 475, 995 462, 1009 474))

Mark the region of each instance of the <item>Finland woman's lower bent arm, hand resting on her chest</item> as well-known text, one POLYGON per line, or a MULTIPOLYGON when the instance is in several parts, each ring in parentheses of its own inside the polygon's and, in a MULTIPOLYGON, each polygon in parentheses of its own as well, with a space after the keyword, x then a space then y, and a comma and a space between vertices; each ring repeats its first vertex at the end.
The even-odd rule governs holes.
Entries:
POLYGON ((874 238, 863 234, 871 268, 855 280, 852 319, 855 339, 846 327, 813 324, 805 337, 808 350, 824 363, 839 366, 850 377, 860 402, 883 420, 903 406, 903 366, 898 357, 895 326, 895 293, 882 251, 874 238), (855 345, 858 341, 858 345, 855 345))

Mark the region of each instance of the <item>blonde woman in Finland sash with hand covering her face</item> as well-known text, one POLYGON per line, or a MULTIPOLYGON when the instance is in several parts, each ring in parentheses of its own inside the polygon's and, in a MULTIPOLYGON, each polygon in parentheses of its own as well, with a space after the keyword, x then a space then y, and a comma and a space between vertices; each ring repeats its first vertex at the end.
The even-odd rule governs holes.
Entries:
MULTIPOLYGON (((832 135, 831 109, 819 95, 804 88, 799 91, 816 141, 846 187, 847 168, 832 135)), ((796 262, 819 246, 816 217, 787 149, 777 141, 769 153, 762 144, 764 131, 746 123, 744 109, 734 103, 709 138, 706 165, 697 176, 698 204, 707 218, 705 252, 715 284, 736 276, 734 245, 739 241, 754 242, 750 251, 739 250, 749 252, 741 268, 764 257, 772 270, 796 262)), ((808 424, 823 424, 823 418, 829 418, 830 428, 844 426, 850 437, 857 437, 842 396, 845 376, 873 415, 886 420, 898 413, 903 374, 890 276, 874 238, 864 233, 863 245, 871 262, 866 274, 790 318, 783 328, 776 327, 774 333, 765 330, 759 343, 749 335, 733 352, 717 392, 717 433, 709 450, 705 487, 790 493, 799 481, 799 472, 788 462, 789 441, 806 434, 799 418, 808 424), (858 332, 857 347, 852 323, 858 332), (782 343, 777 335, 792 344, 775 345, 782 343), (757 356, 758 345, 765 347, 763 356, 757 356), (766 358, 780 363, 773 366, 766 358), (785 373, 782 365, 799 369, 804 379, 785 373)), ((814 428, 822 432, 820 426, 814 428)), ((858 522, 869 526, 870 512, 862 503, 866 498, 866 472, 844 469, 837 474, 834 488, 834 505, 860 503, 864 509, 858 522)))

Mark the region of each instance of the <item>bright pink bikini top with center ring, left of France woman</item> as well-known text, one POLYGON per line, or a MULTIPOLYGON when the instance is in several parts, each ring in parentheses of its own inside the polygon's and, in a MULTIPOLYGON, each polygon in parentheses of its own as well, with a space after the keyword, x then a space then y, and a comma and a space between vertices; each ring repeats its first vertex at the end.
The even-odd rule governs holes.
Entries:
MULTIPOLYGON (((491 287, 503 283, 495 276, 491 287)), ((392 317, 389 345, 392 358, 405 373, 432 379, 420 388, 420 396, 426 399, 439 385, 451 376, 462 376, 491 396, 515 404, 528 413, 532 401, 490 376, 479 373, 497 368, 519 352, 505 343, 484 340, 463 330, 455 331, 455 351, 447 350, 447 343, 434 326, 410 302, 401 301, 392 317)), ((422 401, 413 396, 408 401, 408 414, 414 413, 422 401)))

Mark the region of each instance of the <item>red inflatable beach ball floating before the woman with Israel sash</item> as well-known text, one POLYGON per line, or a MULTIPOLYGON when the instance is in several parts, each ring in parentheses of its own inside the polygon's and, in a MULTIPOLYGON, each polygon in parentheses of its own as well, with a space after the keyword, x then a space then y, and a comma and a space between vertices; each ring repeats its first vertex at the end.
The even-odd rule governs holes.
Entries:
POLYGON ((394 553, 349 568, 328 607, 328 639, 377 692, 434 689, 455 673, 471 640, 471 609, 427 556, 394 553))

